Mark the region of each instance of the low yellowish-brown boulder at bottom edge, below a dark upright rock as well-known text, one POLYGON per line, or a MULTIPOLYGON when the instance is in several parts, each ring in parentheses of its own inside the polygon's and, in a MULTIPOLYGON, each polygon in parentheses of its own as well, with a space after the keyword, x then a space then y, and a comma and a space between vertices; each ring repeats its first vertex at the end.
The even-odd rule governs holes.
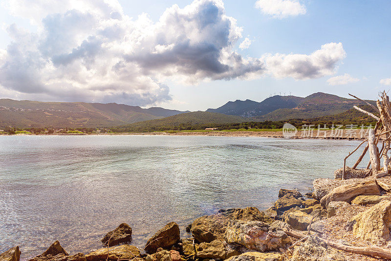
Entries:
MULTIPOLYGON (((139 257, 140 250, 132 245, 119 245, 109 247, 109 260, 133 259, 139 257)), ((108 258, 108 248, 100 248, 86 255, 87 261, 103 261, 108 258)))

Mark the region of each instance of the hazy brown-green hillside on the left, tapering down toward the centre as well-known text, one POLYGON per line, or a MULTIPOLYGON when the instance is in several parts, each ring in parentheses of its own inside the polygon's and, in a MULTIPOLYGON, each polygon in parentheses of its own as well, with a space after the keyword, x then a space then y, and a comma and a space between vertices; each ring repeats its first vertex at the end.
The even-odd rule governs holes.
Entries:
POLYGON ((113 127, 159 119, 183 111, 101 103, 36 102, 0 99, 0 128, 113 127))

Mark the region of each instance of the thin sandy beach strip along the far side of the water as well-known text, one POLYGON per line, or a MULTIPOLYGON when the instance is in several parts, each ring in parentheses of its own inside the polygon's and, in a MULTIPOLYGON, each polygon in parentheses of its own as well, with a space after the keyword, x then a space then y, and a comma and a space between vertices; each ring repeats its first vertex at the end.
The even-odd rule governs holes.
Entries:
MULTIPOLYGON (((349 130, 345 133, 333 133, 330 130, 317 133, 308 133, 308 131, 297 131, 296 134, 288 137, 290 139, 327 139, 327 140, 364 140, 368 137, 368 132, 362 130, 349 130)), ((282 131, 186 131, 186 132, 123 132, 123 133, 50 133, 50 134, 11 134, 12 136, 104 136, 104 135, 161 135, 161 136, 221 136, 221 137, 266 137, 266 138, 285 138, 282 131)), ((0 134, 0 136, 11 136, 0 134)))

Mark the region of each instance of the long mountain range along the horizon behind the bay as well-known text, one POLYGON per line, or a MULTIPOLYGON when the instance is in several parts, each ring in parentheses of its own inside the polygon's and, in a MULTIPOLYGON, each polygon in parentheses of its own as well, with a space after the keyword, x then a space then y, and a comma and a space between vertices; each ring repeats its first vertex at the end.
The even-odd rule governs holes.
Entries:
MULTIPOLYGON (((376 105, 374 101, 368 101, 376 105)), ((317 92, 307 97, 275 95, 261 102, 230 101, 217 109, 179 111, 124 104, 37 102, 0 99, 0 127, 94 128, 129 126, 226 124, 246 121, 284 121, 339 115, 363 102, 317 92), (164 119, 162 119, 164 118, 164 119), (143 123, 140 123, 143 122, 143 123)), ((363 115, 364 116, 364 115, 363 115)))

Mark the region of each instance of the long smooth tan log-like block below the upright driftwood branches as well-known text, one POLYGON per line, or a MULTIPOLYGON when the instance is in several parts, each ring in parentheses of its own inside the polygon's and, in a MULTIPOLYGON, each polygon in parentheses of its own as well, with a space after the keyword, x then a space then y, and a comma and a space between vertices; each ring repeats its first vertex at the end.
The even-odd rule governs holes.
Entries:
POLYGON ((381 196, 379 187, 375 180, 352 183, 334 188, 321 198, 321 205, 327 207, 331 201, 345 201, 350 203, 351 200, 360 195, 381 196))

